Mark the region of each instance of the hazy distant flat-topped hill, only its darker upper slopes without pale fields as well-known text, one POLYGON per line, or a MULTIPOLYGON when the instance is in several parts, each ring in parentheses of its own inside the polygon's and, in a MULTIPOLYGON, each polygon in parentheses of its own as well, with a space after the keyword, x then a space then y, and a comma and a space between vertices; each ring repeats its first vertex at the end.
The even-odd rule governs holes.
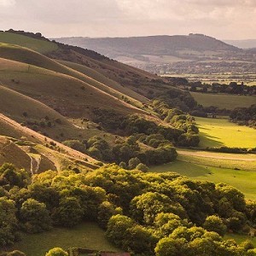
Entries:
POLYGON ((64 44, 77 45, 115 57, 118 55, 177 55, 181 50, 236 51, 237 48, 201 34, 189 36, 149 36, 133 38, 55 38, 64 44))

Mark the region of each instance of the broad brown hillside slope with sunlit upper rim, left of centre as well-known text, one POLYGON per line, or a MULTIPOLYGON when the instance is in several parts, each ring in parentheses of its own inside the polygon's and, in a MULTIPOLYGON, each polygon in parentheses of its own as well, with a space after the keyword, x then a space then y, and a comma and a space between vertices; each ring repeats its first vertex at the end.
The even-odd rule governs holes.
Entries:
POLYGON ((91 118, 95 108, 143 113, 82 80, 17 61, 0 59, 0 81, 71 118, 91 118))

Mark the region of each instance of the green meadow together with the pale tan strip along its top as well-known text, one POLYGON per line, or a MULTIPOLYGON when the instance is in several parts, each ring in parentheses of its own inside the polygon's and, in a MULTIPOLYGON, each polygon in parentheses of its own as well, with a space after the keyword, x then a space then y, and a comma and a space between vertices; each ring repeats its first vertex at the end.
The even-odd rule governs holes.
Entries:
MULTIPOLYGON (((209 152, 205 152, 209 154, 209 152)), ((211 156, 211 153, 210 155, 211 156)), ((217 156, 217 154, 215 154, 217 156)), ((255 158, 255 155, 253 155, 255 158)), ((218 155, 219 158, 224 157, 223 154, 218 155)), ((225 157, 232 157, 232 154, 226 154, 225 157)), ((239 158, 237 154, 233 157, 239 158)), ((251 156, 252 157, 252 156, 251 156)), ((254 161, 244 160, 218 160, 211 157, 202 157, 202 155, 189 156, 179 154, 175 162, 163 166, 154 166, 150 168, 150 172, 177 172, 181 175, 196 179, 205 180, 213 183, 228 183, 236 189, 241 190, 247 199, 256 200, 256 158, 254 161), (245 167, 251 169, 235 170, 237 167, 245 167), (254 171, 253 171, 254 169, 254 171)))

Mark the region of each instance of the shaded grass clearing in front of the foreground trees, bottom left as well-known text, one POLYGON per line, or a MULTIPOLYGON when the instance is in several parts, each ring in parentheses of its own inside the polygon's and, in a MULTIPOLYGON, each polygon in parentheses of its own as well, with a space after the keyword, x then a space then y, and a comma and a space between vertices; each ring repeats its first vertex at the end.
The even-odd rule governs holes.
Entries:
POLYGON ((55 228, 41 234, 23 234, 22 240, 15 243, 11 250, 20 250, 27 256, 42 256, 53 247, 84 247, 92 250, 120 252, 108 242, 97 224, 86 222, 73 229, 55 228))

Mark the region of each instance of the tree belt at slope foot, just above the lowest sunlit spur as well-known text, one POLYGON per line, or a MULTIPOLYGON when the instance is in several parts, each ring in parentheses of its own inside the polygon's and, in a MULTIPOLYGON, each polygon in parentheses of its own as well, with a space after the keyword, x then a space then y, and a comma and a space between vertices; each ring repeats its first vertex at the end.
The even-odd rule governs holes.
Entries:
MULTIPOLYGON (((102 137, 91 137, 88 141, 69 140, 63 142, 70 148, 89 154, 97 160, 116 163, 125 169, 138 169, 143 172, 147 166, 160 165, 176 160, 177 152, 170 142, 157 147, 143 147, 140 138, 144 134, 127 137, 125 141, 117 139, 114 145, 102 137)), ((155 146, 155 145, 154 145, 155 146)))

